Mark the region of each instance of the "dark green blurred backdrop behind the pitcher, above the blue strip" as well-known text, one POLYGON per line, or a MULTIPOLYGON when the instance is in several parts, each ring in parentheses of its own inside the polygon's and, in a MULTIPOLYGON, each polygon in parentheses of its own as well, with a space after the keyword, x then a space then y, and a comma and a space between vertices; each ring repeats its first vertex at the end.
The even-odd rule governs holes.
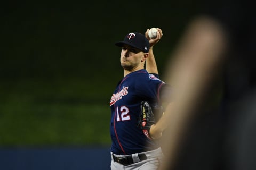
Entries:
POLYGON ((1 10, 0 146, 109 145, 124 36, 158 27, 160 76, 190 1, 9 2, 1 10))

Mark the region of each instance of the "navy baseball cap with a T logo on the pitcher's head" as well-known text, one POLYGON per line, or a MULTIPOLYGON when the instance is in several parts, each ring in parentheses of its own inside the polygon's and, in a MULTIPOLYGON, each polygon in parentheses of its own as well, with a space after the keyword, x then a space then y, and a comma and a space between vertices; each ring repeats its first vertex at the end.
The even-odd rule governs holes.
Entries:
POLYGON ((124 44, 130 45, 132 47, 138 48, 145 53, 149 51, 149 41, 145 35, 138 32, 128 33, 123 41, 115 43, 118 47, 123 47, 124 44))

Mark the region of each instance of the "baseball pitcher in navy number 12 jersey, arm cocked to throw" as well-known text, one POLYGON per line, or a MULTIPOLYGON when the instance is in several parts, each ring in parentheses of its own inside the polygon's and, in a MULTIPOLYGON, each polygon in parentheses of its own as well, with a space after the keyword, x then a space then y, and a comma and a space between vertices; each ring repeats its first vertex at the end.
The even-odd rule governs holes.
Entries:
POLYGON ((153 46, 163 36, 162 30, 157 30, 155 39, 149 38, 147 29, 145 35, 130 32, 116 43, 122 47, 124 77, 110 99, 112 170, 157 169, 163 158, 154 138, 157 134, 150 133, 150 126, 157 121, 155 111, 161 111, 158 106, 166 87, 158 77, 153 54, 153 46))

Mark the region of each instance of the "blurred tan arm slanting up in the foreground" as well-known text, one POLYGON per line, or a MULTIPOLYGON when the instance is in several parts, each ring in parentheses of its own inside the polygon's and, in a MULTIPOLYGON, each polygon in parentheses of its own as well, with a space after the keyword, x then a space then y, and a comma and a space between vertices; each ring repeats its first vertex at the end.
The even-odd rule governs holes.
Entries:
POLYGON ((202 17, 189 25, 174 52, 172 65, 166 74, 167 82, 174 89, 174 102, 164 115, 169 126, 162 137, 166 160, 160 169, 170 168, 179 161, 177 157, 183 151, 180 149, 184 147, 183 140, 188 138, 185 132, 199 112, 198 108, 208 95, 210 83, 225 61, 225 49, 225 32, 220 25, 210 18, 202 17))

